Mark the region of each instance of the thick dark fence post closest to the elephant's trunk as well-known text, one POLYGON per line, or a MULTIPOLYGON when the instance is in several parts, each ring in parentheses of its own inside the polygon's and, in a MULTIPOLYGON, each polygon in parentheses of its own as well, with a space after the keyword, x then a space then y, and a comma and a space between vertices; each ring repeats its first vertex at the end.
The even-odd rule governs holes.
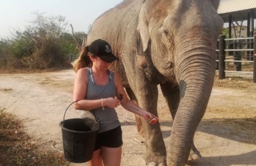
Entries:
POLYGON ((225 49, 226 49, 226 36, 225 35, 219 35, 219 80, 225 78, 225 49))

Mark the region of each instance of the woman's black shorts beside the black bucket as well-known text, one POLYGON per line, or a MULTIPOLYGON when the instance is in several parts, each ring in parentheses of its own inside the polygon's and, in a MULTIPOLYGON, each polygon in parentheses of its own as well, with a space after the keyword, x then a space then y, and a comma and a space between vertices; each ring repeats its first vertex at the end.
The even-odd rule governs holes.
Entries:
POLYGON ((94 151, 100 149, 100 147, 120 147, 122 146, 122 129, 121 126, 98 133, 95 143, 94 151))

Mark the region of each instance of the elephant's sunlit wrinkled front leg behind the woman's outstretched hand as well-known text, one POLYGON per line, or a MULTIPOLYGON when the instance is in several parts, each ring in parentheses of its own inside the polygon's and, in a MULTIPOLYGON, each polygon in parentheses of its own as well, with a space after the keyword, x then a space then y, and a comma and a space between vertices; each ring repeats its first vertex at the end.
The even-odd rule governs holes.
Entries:
MULTIPOLYGON (((146 80, 140 80, 134 85, 136 85, 136 87, 134 87, 134 89, 136 89, 134 93, 138 99, 139 106, 157 116, 157 85, 150 84, 146 80)), ((166 149, 159 122, 156 124, 148 124, 144 118, 142 118, 141 121, 145 131, 146 164, 165 165, 166 149)))

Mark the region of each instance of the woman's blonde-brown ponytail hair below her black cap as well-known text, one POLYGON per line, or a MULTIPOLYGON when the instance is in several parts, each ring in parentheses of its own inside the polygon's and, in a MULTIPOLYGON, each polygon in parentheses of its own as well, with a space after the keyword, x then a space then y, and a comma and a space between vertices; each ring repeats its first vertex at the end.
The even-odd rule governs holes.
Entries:
POLYGON ((82 50, 80 51, 80 55, 78 59, 75 60, 74 66, 73 66, 73 70, 75 71, 75 73, 77 73, 77 71, 80 68, 92 66, 93 62, 89 57, 89 55, 92 55, 92 54, 89 53, 88 48, 89 48, 88 46, 83 47, 82 50))

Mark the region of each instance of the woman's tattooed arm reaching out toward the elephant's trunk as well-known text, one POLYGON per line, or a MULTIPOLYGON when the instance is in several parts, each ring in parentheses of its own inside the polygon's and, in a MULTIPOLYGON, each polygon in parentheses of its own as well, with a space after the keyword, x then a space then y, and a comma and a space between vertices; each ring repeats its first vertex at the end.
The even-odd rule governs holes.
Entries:
POLYGON ((128 111, 131 111, 132 113, 136 113, 139 116, 143 116, 145 120, 149 120, 152 118, 156 118, 156 120, 158 120, 158 118, 154 116, 152 113, 149 113, 144 109, 141 109, 136 104, 134 104, 134 102, 129 100, 129 98, 127 98, 125 89, 122 86, 122 80, 117 73, 115 73, 115 84, 116 84, 116 98, 120 100, 120 104, 122 105, 122 107, 124 107, 128 111))

